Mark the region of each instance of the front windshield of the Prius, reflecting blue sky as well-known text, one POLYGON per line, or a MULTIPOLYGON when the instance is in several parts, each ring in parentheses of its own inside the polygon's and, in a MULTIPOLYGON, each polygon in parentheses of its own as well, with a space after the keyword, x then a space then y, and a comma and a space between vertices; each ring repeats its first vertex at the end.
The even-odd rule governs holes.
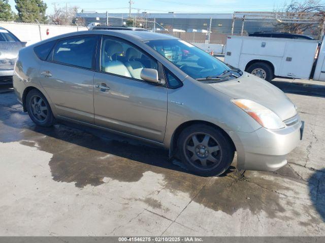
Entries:
POLYGON ((195 79, 215 77, 231 70, 209 53, 180 39, 158 39, 144 43, 195 79))

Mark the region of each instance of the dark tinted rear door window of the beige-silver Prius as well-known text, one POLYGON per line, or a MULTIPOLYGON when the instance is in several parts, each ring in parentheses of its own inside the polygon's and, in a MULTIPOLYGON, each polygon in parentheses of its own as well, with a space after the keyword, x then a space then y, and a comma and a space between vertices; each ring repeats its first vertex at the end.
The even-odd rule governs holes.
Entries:
POLYGON ((57 42, 52 61, 83 68, 94 68, 97 35, 61 39, 57 42))

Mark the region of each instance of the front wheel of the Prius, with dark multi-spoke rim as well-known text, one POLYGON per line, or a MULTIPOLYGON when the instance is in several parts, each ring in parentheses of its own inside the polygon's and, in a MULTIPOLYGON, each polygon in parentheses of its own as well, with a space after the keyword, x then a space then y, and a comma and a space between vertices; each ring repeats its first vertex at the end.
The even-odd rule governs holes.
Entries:
POLYGON ((185 128, 177 147, 187 169, 200 176, 221 175, 231 165, 235 153, 228 136, 205 124, 185 128))

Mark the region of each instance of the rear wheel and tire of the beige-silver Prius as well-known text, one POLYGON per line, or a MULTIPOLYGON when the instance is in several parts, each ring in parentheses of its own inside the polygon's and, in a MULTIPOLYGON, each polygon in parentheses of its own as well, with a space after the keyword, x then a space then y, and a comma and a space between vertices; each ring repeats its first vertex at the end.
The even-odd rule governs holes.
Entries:
POLYGON ((34 89, 28 92, 26 96, 26 109, 32 121, 41 127, 51 127, 54 124, 51 107, 45 96, 34 89))

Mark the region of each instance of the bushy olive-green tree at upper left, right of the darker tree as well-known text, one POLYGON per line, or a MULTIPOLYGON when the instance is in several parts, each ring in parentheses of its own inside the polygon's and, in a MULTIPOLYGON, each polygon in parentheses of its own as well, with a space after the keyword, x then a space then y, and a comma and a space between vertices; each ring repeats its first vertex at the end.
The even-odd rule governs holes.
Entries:
POLYGON ((46 3, 42 0, 15 0, 16 10, 18 11, 18 21, 46 23, 45 11, 46 3))

